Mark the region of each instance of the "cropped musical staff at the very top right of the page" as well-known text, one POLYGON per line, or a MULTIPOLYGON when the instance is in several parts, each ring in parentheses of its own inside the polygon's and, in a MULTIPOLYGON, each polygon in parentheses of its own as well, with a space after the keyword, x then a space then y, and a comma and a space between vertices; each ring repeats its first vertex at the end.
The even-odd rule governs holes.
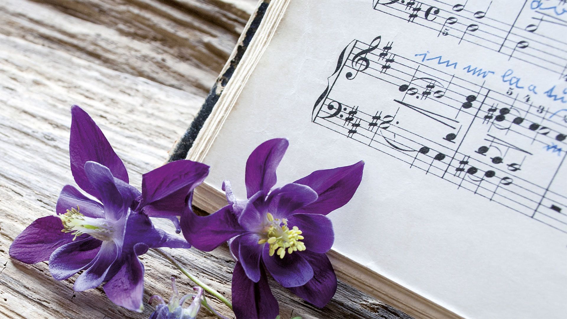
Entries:
POLYGON ((373 7, 433 30, 438 37, 456 38, 458 44, 467 42, 506 54, 509 59, 538 66, 567 81, 567 42, 563 36, 567 20, 539 10, 532 2, 508 2, 509 10, 518 12, 509 21, 491 15, 492 2, 486 8, 477 8, 472 1, 450 5, 439 0, 374 0, 373 7))

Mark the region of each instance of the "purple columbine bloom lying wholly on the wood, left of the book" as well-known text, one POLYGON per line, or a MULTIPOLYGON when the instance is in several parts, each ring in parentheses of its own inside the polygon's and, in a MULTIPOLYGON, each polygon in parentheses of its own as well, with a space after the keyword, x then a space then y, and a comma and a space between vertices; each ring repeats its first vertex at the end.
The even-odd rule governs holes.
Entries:
POLYGON ((84 270, 75 291, 98 287, 114 303, 141 311, 144 268, 138 255, 150 247, 189 248, 186 241, 154 228, 148 216, 175 219, 209 167, 176 161, 143 175, 142 192, 128 184, 124 163, 99 127, 78 106, 71 108, 69 153, 77 188, 63 187, 57 216, 41 217, 18 235, 10 256, 32 264, 49 260, 53 278, 84 270))

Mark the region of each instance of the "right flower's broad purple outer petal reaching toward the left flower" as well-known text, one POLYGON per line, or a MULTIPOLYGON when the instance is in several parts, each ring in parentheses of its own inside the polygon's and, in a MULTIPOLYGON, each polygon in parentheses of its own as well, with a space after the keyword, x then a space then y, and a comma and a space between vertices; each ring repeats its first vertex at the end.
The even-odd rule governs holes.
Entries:
POLYGON ((231 205, 209 216, 197 216, 187 207, 181 215, 181 231, 191 245, 203 251, 211 251, 245 232, 232 215, 231 205))

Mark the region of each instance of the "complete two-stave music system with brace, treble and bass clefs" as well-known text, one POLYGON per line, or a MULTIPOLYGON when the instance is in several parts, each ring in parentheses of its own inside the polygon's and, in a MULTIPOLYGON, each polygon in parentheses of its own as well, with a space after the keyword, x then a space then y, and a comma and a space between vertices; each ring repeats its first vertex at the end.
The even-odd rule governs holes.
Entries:
MULTIPOLYGON (((429 11, 429 20, 441 15, 418 3, 405 6, 412 14, 429 11)), ((464 5, 451 10, 466 12, 464 5)), ((488 19, 487 11, 472 12, 472 19, 488 19)), ((380 36, 354 40, 316 100, 312 121, 567 233, 567 196, 556 186, 567 156, 567 123, 529 96, 444 70, 450 69, 397 54, 380 36), (365 93, 376 95, 372 105, 353 94, 367 81, 376 91, 365 93)))

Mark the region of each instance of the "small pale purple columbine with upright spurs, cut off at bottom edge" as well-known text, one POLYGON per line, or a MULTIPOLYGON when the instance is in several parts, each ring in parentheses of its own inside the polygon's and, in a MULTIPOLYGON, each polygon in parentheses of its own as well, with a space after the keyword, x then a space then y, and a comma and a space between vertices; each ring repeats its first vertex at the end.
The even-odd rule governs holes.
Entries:
POLYGON ((201 309, 201 302, 204 300, 203 288, 193 287, 197 291, 196 295, 185 295, 179 297, 177 287, 175 287, 175 278, 171 277, 171 289, 173 294, 170 301, 166 304, 162 297, 154 295, 150 297, 150 304, 154 300, 158 300, 159 304, 155 307, 153 313, 150 314, 150 319, 194 319, 197 318, 197 313, 201 309), (183 308, 185 301, 193 298, 191 305, 183 308))

